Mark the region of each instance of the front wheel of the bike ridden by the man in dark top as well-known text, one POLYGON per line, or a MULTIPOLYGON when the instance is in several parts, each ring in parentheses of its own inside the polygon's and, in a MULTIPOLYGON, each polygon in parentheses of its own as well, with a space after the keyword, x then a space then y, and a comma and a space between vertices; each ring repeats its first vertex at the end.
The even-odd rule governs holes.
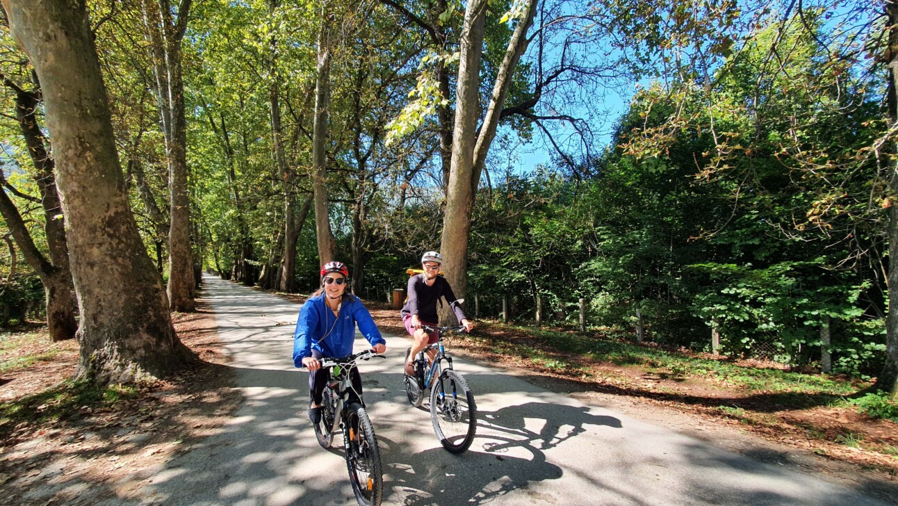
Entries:
POLYGON ((468 382, 451 369, 443 371, 430 391, 430 419, 443 448, 462 453, 471 447, 477 429, 474 394, 468 382))

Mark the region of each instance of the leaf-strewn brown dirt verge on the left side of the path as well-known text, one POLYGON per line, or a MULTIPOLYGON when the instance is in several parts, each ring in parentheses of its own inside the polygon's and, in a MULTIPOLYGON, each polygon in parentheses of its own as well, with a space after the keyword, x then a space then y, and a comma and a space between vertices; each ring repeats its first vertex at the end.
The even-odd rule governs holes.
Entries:
MULTIPOLYGON (((233 373, 225 366, 228 358, 215 317, 200 304, 197 313, 174 314, 172 319, 181 342, 204 362, 142 386, 136 398, 112 409, 82 409, 64 420, 17 427, 0 442, 0 504, 136 501, 137 487, 165 462, 222 430, 241 398, 232 388, 233 373)), ((71 377, 77 343, 43 346, 57 347, 59 353, 53 360, 4 374, 0 402, 37 394, 71 377)))

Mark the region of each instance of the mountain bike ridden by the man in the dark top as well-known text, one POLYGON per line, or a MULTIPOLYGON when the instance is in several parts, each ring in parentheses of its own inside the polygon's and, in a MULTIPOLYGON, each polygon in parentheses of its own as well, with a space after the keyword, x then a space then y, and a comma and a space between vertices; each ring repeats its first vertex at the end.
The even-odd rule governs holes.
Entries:
POLYGON ((421 328, 426 333, 436 332, 439 340, 415 357, 415 375, 404 378, 405 393, 411 405, 420 407, 424 402, 424 391, 430 388, 430 419, 434 422, 436 437, 443 448, 452 453, 462 453, 474 441, 477 405, 474 404, 474 394, 468 382, 453 369, 452 357, 446 356, 443 334, 459 332, 464 327, 424 325, 421 328), (436 350, 436 354, 433 362, 429 363, 426 354, 432 350, 436 350))

